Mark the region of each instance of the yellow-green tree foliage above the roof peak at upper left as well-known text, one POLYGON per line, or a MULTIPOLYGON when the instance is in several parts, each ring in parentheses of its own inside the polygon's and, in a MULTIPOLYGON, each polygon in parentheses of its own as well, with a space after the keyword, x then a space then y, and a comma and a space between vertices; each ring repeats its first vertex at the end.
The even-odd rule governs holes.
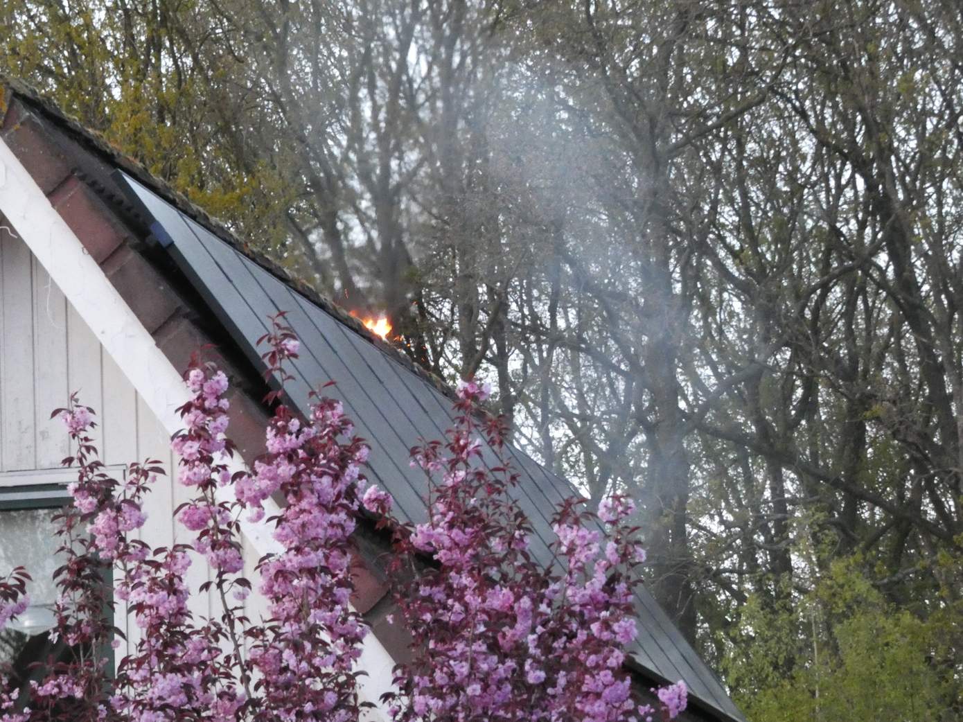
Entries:
POLYGON ((254 245, 283 255, 292 192, 282 156, 265 160, 234 142, 250 133, 237 92, 246 68, 225 52, 234 38, 212 39, 206 5, 5 3, 0 72, 33 84, 212 215, 256 229, 254 245))

